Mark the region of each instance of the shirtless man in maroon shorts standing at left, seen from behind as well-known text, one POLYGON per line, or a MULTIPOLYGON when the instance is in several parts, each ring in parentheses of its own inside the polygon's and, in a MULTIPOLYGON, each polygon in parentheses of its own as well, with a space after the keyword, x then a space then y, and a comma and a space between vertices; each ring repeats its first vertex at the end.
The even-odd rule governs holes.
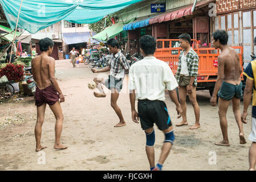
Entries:
POLYGON ((35 151, 38 152, 47 148, 41 146, 40 142, 46 104, 50 106, 56 118, 54 148, 63 150, 66 149, 67 146, 60 143, 60 134, 62 133, 63 125, 63 114, 60 102, 64 102, 65 99, 55 79, 55 60, 50 57, 54 42, 49 38, 44 38, 40 40, 39 46, 42 53, 40 56, 33 58, 31 62, 32 75, 36 82, 35 105, 37 109, 37 121, 35 125, 35 151))

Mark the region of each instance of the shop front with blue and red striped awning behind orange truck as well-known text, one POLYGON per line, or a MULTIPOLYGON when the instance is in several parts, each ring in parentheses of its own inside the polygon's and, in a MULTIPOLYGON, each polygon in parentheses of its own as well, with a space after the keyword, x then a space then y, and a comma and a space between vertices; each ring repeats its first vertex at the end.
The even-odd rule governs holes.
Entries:
MULTIPOLYGON (((128 31, 129 51, 139 52, 139 39, 143 35, 152 35, 156 39, 178 39, 183 33, 188 33, 192 39, 198 40, 199 47, 210 47, 210 10, 209 3, 215 0, 197 3, 192 12, 193 5, 178 7, 168 12, 154 15, 149 18, 136 20, 124 26, 128 31)), ((165 43, 168 47, 168 42, 165 43)), ((161 45, 157 45, 161 48, 161 45)), ((179 43, 172 42, 172 47, 179 47, 179 43)))

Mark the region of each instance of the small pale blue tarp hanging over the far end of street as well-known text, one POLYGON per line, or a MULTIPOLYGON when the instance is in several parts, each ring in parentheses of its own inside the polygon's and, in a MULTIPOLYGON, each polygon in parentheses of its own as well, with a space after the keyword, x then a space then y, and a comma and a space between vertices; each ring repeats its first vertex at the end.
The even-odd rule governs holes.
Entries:
MULTIPOLYGON (((92 35, 95 33, 93 32, 92 35)), ((88 42, 90 37, 90 32, 63 33, 63 40, 67 45, 88 42)), ((96 41, 91 39, 91 43, 94 42, 96 41)))

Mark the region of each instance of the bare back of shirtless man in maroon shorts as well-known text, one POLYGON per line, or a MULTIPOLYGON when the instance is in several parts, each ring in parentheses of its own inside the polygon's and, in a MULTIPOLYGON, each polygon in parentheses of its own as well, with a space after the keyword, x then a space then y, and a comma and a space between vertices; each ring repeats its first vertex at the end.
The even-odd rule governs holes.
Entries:
POLYGON ((50 56, 36 56, 32 59, 31 67, 33 72, 33 77, 36 81, 36 86, 42 90, 47 86, 51 85, 49 67, 50 61, 54 59, 50 56))

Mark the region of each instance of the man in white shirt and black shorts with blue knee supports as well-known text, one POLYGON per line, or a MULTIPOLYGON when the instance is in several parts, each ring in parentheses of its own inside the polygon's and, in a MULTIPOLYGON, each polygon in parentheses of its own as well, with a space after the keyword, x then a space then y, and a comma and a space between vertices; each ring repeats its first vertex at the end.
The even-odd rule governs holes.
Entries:
POLYGON ((140 51, 144 59, 133 64, 129 71, 129 90, 132 107, 132 121, 140 123, 147 137, 146 153, 151 170, 159 171, 167 158, 173 145, 173 126, 170 121, 167 107, 164 103, 165 88, 169 96, 176 104, 178 118, 181 117, 182 109, 178 102, 175 88, 177 81, 169 67, 164 61, 154 57, 156 50, 156 39, 144 35, 140 39, 140 51), (136 90, 136 93, 135 93, 136 90), (135 98, 138 102, 138 112, 135 110, 135 98), (164 145, 159 162, 155 166, 155 130, 154 123, 165 134, 164 145))

